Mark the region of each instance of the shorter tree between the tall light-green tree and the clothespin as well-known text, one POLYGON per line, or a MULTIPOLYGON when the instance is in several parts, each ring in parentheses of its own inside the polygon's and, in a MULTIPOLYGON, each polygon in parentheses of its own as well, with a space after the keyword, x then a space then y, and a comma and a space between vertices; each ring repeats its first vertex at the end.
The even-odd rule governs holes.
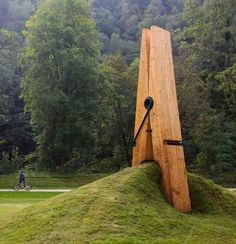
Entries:
POLYGON ((138 61, 127 65, 122 56, 109 56, 102 65, 102 75, 107 84, 103 97, 107 113, 98 130, 98 154, 101 159, 112 157, 120 169, 122 163, 131 162, 138 61))

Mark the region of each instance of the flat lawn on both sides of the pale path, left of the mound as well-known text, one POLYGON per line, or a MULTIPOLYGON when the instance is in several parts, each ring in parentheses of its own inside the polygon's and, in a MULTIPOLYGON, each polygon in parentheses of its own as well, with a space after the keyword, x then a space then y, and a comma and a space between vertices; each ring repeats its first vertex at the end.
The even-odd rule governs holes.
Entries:
MULTIPOLYGON (((86 185, 101 179, 105 174, 80 174, 78 176, 50 175, 40 172, 28 173, 27 183, 33 189, 68 189, 86 185)), ((18 175, 0 177, 0 189, 13 189, 18 181, 18 175)), ((37 204, 59 193, 55 192, 0 192, 0 224, 11 219, 18 211, 37 204)))

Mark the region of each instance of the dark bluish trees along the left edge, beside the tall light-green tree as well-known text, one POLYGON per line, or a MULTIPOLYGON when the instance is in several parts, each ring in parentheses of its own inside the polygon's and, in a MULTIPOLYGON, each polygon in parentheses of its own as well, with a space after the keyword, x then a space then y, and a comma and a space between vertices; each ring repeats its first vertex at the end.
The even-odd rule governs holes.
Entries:
POLYGON ((30 117, 20 98, 18 62, 24 43, 21 31, 33 9, 31 1, 0 1, 0 173, 21 167, 22 156, 34 149, 30 117))

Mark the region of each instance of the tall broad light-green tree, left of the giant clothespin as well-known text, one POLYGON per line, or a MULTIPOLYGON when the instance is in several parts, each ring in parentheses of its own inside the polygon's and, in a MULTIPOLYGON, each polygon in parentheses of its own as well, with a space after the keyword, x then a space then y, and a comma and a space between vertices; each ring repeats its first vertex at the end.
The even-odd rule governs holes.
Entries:
MULTIPOLYGON (((89 158, 99 87, 100 44, 88 1, 42 2, 27 22, 23 97, 41 166, 89 158)), ((77 165, 78 166, 78 165, 77 165)))

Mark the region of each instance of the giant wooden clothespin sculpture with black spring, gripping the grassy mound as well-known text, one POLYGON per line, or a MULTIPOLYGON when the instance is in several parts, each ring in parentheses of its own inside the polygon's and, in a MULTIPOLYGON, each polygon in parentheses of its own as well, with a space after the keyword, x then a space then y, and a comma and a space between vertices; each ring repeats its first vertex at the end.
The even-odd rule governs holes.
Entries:
POLYGON ((191 211, 170 33, 156 26, 142 33, 134 143, 132 165, 158 162, 167 201, 191 211))

